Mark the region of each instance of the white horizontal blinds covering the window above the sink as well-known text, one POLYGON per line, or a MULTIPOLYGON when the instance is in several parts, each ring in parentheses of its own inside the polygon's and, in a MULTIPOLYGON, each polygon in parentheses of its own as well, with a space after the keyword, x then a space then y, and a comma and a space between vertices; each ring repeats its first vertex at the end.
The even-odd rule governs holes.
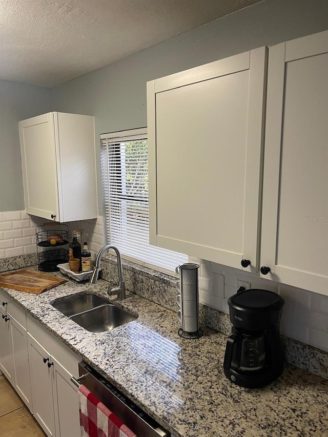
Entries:
POLYGON ((126 256, 173 272, 187 255, 149 244, 147 130, 100 135, 106 242, 126 256))

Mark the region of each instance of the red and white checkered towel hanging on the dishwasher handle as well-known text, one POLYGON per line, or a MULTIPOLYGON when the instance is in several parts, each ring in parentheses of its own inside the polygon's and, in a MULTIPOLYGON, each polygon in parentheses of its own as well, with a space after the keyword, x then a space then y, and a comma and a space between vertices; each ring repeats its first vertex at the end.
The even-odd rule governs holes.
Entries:
POLYGON ((82 384, 78 402, 81 437, 137 437, 82 384))

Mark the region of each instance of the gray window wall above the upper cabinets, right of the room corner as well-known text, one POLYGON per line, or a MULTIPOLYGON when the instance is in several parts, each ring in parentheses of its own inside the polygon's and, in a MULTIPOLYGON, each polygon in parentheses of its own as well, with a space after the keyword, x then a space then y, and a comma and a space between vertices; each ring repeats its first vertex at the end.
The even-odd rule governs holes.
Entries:
POLYGON ((54 110, 94 115, 99 149, 100 133, 147 126, 148 80, 326 29, 327 0, 264 0, 53 89, 54 110))

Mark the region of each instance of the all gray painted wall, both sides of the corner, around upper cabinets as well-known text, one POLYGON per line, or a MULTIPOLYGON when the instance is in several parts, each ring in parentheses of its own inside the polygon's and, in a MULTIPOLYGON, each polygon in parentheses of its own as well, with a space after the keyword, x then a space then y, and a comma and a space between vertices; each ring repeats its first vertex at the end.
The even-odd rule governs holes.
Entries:
POLYGON ((147 125, 148 80, 326 29, 327 0, 264 0, 53 90, 0 81, 0 211, 24 209, 19 120, 49 111, 95 116, 101 205, 99 134, 147 125))

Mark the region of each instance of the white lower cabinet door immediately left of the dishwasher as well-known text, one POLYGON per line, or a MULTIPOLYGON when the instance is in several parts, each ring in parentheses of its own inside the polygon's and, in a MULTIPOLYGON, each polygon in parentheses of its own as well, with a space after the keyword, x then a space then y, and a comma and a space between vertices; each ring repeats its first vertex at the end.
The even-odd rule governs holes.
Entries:
POLYGON ((56 437, 79 437, 80 422, 77 388, 70 381, 71 374, 52 358, 53 403, 55 411, 56 437))

